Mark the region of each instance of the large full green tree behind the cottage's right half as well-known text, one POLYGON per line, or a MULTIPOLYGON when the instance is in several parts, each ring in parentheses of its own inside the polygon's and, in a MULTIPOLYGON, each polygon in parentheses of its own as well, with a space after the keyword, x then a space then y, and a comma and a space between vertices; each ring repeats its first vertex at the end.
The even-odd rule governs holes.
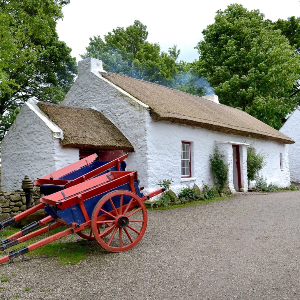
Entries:
POLYGON ((296 106, 297 98, 290 96, 300 70, 287 38, 259 10, 239 4, 218 10, 214 24, 202 34, 193 69, 205 76, 220 103, 279 129, 281 119, 296 106))

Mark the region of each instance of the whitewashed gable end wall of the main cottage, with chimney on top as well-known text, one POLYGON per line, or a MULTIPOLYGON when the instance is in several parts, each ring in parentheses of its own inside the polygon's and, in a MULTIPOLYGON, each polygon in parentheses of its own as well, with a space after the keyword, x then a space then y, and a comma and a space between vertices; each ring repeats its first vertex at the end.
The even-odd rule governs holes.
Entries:
POLYGON ((126 162, 128 170, 137 170, 141 184, 149 186, 147 127, 151 121, 148 106, 135 99, 99 74, 102 61, 86 58, 78 62, 78 77, 63 105, 93 108, 103 113, 125 135, 135 149, 126 162))

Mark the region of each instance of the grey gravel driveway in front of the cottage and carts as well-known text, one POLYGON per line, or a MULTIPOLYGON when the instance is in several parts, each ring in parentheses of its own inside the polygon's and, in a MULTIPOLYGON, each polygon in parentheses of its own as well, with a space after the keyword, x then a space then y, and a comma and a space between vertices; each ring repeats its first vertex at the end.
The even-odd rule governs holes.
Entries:
POLYGON ((9 278, 0 281, 0 299, 299 300, 299 196, 238 195, 148 211, 146 234, 127 252, 96 251, 77 265, 0 265, 9 278))

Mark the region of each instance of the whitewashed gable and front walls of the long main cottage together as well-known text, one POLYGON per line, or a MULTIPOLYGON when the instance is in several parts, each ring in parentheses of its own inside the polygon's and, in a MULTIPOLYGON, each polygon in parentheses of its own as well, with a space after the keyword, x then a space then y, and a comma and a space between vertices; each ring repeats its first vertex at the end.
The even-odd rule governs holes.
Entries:
POLYGON ((178 193, 187 185, 202 182, 213 185, 209 155, 218 145, 229 164, 228 187, 234 192, 232 144, 240 144, 242 190, 247 190, 247 145, 255 143, 257 152, 266 153, 262 174, 267 182, 279 187, 290 184, 286 145, 246 139, 186 125, 155 122, 149 108, 121 88, 104 79, 95 68, 95 58, 79 63, 79 76, 62 104, 93 108, 103 113, 128 138, 135 152, 127 159, 128 169, 137 170, 141 184, 149 191, 158 188, 158 181, 173 179, 172 189, 178 193), (84 74, 84 76, 81 76, 84 74), (191 143, 192 178, 181 178, 181 143, 191 143), (216 143, 217 142, 217 143, 216 143), (220 143, 226 142, 226 143, 220 143), (284 169, 280 170, 279 153, 283 153, 284 169))

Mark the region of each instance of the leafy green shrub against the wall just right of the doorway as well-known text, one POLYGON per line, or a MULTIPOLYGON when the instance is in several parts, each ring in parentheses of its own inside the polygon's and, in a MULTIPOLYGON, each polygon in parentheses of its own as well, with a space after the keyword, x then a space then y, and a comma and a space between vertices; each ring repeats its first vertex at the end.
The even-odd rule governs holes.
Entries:
POLYGON ((250 181, 256 180, 258 177, 259 171, 265 166, 264 153, 256 153, 253 148, 253 144, 251 147, 247 148, 247 176, 248 176, 248 186, 250 181))

